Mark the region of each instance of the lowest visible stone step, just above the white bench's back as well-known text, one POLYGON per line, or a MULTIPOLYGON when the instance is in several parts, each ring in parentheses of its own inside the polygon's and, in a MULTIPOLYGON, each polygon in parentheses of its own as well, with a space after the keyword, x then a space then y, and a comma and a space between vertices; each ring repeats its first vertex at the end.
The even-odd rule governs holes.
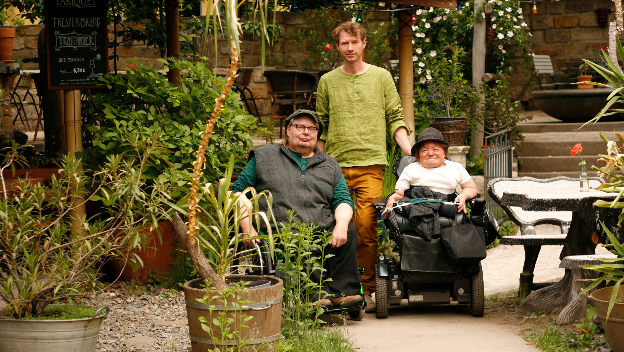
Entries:
MULTIPOLYGON (((546 157, 520 157, 522 159, 522 167, 520 167, 520 173, 526 172, 575 172, 576 177, 581 172, 581 167, 578 166, 580 159, 578 156, 573 155, 552 155, 546 157)), ((587 173, 592 174, 592 165, 597 167, 603 167, 604 162, 597 162, 595 158, 584 157, 583 160, 587 162, 587 173)))

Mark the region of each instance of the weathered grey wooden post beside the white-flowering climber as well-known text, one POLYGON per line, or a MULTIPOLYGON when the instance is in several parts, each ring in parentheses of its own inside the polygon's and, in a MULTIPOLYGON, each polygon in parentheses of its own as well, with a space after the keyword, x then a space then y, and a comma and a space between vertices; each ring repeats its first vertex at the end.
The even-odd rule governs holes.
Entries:
MULTIPOLYGON (((475 0, 475 11, 479 9, 483 0, 475 0)), ((474 21, 474 32, 472 34, 472 86, 479 88, 482 84, 482 77, 485 74, 485 19, 477 16, 474 21)), ((485 99, 484 94, 480 94, 481 102, 477 105, 477 114, 485 99)), ((483 124, 477 122, 475 130, 472 131, 472 154, 479 156, 480 147, 483 144, 483 124)))

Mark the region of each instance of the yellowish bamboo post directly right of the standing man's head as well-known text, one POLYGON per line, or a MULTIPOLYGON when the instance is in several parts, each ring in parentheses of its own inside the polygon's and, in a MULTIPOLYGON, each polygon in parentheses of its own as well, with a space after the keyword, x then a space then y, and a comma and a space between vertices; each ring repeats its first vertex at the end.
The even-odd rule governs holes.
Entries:
MULTIPOLYGON (((400 5, 408 7, 407 5, 400 5)), ((414 62, 412 61, 412 14, 409 10, 399 12, 399 97, 405 116, 405 124, 414 130, 414 62)), ((414 133, 409 135, 414 143, 414 133)))

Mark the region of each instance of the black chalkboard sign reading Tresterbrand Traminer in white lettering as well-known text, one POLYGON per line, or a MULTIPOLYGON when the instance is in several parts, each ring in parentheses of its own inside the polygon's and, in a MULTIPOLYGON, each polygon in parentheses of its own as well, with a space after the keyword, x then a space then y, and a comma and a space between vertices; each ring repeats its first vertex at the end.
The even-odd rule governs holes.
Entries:
POLYGON ((44 10, 48 88, 97 87, 109 72, 107 0, 45 0, 44 10))

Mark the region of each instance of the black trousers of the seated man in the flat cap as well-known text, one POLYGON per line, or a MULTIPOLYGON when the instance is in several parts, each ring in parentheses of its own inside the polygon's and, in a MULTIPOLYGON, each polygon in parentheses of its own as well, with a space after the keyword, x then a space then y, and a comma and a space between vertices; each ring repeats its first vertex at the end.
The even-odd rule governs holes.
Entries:
MULTIPOLYGON (((328 232, 332 232, 335 226, 334 224, 329 227, 328 232)), ((333 257, 323 262, 323 268, 326 270, 323 273, 324 279, 331 278, 331 281, 324 282, 323 291, 335 297, 359 295, 361 280, 358 268, 358 230, 355 225, 349 222, 347 242, 344 245, 337 248, 328 245, 324 253, 325 255, 331 254, 333 257)), ((319 275, 321 275, 320 270, 316 270, 310 274, 310 278, 318 282, 319 275)))

